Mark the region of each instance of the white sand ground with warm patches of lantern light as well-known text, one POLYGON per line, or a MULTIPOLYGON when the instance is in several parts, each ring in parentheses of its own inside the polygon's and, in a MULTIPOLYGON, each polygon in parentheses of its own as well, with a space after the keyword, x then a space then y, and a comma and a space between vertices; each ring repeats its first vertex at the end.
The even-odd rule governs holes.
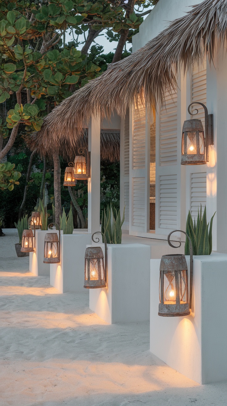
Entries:
POLYGON ((149 352, 149 324, 108 325, 88 292, 59 294, 0 237, 0 406, 223 406, 227 382, 199 386, 149 352))

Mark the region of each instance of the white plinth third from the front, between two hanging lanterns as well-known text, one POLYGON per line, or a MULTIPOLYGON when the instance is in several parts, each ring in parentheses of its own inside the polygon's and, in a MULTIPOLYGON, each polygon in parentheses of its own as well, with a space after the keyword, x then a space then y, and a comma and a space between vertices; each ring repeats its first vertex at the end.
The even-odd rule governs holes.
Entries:
POLYGON ((61 293, 85 292, 84 256, 87 244, 91 244, 91 234, 61 235, 61 262, 50 264, 50 284, 61 293))

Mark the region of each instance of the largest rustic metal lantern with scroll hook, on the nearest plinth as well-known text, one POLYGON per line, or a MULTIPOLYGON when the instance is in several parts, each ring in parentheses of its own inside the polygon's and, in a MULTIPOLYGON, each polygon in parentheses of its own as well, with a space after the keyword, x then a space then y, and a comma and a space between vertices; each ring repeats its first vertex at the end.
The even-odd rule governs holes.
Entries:
MULTIPOLYGON (((175 230, 181 231, 181 230, 175 230)), ((168 235, 168 244, 173 248, 168 235)), ((160 263, 159 316, 188 316, 191 309, 193 283, 193 248, 191 239, 184 231, 190 244, 190 298, 188 289, 188 268, 185 255, 163 255, 160 263)))

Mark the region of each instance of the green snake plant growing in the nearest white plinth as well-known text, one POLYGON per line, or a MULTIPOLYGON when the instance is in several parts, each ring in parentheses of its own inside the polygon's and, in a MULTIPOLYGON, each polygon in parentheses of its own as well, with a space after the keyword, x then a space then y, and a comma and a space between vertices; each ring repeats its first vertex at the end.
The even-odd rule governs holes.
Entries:
MULTIPOLYGON (((216 213, 216 212, 215 212, 216 213)), ((215 214, 214 213, 214 214, 215 214)), ((186 223, 186 233, 191 238, 193 246, 193 255, 210 255, 212 252, 212 225, 213 225, 212 216, 210 220, 210 229, 208 231, 209 223, 206 222, 206 205, 204 208, 204 214, 202 215, 202 205, 200 205, 200 214, 198 208, 197 222, 195 224, 191 217, 189 211, 187 223, 186 223)), ((185 255, 189 255, 189 240, 186 238, 185 242, 185 255)))

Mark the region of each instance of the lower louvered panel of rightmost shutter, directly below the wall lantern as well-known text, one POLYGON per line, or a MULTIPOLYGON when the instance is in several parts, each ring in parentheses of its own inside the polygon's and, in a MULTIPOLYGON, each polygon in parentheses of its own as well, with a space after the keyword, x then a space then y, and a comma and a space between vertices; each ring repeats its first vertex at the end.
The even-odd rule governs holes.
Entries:
POLYGON ((190 212, 194 220, 197 219, 198 207, 202 204, 202 212, 206 204, 206 172, 191 173, 190 212))

